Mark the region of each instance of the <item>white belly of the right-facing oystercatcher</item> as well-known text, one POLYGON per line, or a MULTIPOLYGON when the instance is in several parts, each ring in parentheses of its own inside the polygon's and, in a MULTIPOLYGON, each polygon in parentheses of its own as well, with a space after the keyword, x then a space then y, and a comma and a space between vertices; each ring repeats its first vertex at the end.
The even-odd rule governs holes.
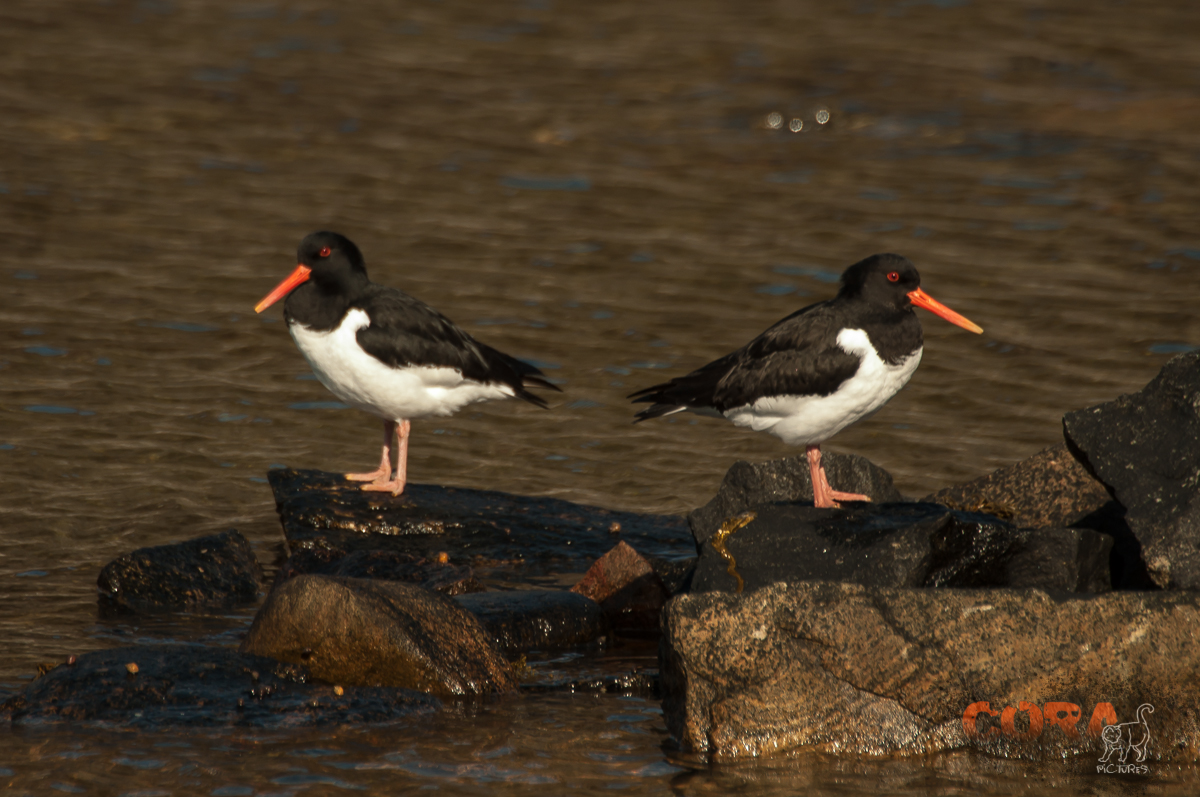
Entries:
POLYGON ((899 392, 920 364, 917 349, 898 365, 888 365, 871 347, 866 332, 844 329, 838 346, 862 358, 858 372, 828 396, 773 396, 727 409, 738 426, 770 432, 788 445, 817 445, 859 421, 899 392))

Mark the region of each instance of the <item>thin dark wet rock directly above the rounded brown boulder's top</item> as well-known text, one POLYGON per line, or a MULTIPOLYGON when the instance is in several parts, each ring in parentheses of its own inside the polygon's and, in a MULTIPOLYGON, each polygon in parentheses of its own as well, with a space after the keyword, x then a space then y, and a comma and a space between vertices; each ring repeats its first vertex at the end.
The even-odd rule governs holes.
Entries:
POLYGON ((324 540, 302 545, 287 558, 275 577, 278 586, 298 575, 344 576, 347 579, 382 579, 407 581, 448 595, 462 595, 486 589, 467 565, 449 563, 442 555, 433 561, 402 551, 352 551, 336 549, 324 540))

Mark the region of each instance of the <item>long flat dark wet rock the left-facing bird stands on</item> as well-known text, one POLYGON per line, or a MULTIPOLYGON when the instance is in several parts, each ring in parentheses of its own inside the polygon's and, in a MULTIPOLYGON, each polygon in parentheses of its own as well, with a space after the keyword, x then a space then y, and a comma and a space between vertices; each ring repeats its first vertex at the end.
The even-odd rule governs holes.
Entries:
POLYGON ((619 539, 648 556, 694 552, 680 517, 421 484, 394 498, 320 471, 272 469, 268 478, 293 553, 324 545, 434 561, 445 551, 482 577, 528 580, 583 573, 612 547, 613 523, 619 539))

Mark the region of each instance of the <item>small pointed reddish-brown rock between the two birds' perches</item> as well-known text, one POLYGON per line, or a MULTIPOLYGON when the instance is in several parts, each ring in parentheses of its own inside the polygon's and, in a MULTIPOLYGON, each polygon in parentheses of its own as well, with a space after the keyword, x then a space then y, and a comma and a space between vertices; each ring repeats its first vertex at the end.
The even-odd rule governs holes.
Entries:
POLYGON ((600 604, 613 629, 625 635, 656 636, 670 597, 653 564, 624 541, 596 559, 571 592, 600 604))

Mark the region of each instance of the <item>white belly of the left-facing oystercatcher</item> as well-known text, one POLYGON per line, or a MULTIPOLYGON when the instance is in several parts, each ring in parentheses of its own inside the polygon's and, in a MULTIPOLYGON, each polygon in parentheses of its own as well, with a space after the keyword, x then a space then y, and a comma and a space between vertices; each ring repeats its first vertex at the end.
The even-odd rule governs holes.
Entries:
POLYGON ((385 420, 450 415, 467 405, 508 398, 512 388, 467 379, 457 368, 402 366, 394 368, 359 346, 358 331, 371 324, 361 310, 346 313, 328 332, 288 324, 292 340, 323 385, 347 405, 385 420))

